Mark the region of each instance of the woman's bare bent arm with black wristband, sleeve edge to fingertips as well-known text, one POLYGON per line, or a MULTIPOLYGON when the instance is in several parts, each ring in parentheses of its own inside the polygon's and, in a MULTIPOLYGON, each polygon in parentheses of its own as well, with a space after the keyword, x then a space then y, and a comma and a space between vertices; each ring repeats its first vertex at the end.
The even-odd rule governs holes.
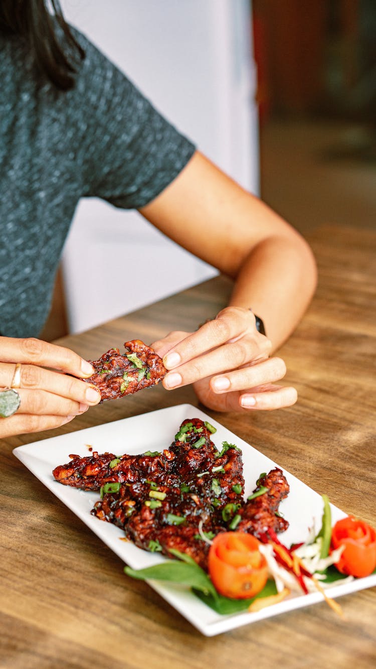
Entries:
POLYGON ((293 332, 313 296, 317 271, 307 242, 200 153, 140 211, 180 246, 235 280, 230 306, 214 321, 196 333, 171 333, 155 343, 160 355, 169 351, 165 364, 174 369, 165 387, 198 382, 200 399, 218 409, 245 408, 246 396, 252 396, 247 408, 293 403, 294 389, 270 387, 284 375, 283 361, 267 359, 293 332), (268 339, 256 332, 249 308, 262 318, 268 339))

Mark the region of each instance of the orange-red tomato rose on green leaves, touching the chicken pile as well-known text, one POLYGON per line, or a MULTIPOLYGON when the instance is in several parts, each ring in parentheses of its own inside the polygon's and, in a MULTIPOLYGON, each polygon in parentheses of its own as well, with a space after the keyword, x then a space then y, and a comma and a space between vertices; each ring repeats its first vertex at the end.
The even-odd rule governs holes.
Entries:
POLYGON ((210 546, 210 578, 220 595, 232 599, 254 597, 268 580, 268 566, 260 542, 242 532, 222 532, 210 546))

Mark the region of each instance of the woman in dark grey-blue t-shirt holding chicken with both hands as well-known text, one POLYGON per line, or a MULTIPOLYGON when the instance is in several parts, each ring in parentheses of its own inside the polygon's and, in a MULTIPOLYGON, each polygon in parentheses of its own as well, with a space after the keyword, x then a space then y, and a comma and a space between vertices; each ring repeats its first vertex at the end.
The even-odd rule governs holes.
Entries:
POLYGON ((164 387, 194 383, 219 411, 293 404, 295 389, 275 383, 285 363, 269 355, 315 290, 315 261, 297 231, 160 116, 67 26, 57 0, 0 0, 0 70, 0 388, 21 399, 0 436, 57 427, 100 401, 74 378, 91 365, 35 339, 75 206, 94 195, 138 209, 235 280, 214 320, 154 343, 169 370, 164 387))

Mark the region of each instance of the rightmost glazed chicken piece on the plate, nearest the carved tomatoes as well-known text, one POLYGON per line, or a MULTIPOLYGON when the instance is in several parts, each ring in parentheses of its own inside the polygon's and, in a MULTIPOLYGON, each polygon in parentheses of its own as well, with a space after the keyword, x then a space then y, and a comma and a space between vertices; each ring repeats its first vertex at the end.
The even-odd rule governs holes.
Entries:
POLYGON ((241 520, 236 527, 236 531, 247 532, 261 540, 267 537, 268 529, 279 533, 289 527, 289 522, 278 515, 278 506, 290 490, 285 475, 278 467, 260 478, 253 492, 258 492, 262 487, 267 488, 267 492, 245 502, 238 509, 241 520))

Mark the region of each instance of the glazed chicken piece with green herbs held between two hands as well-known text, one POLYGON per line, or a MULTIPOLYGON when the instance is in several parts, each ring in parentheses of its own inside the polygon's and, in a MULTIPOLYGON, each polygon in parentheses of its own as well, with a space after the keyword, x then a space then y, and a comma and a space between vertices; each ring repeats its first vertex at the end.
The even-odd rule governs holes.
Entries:
POLYGON ((156 385, 167 373, 162 358, 139 339, 126 341, 124 347, 124 355, 119 349, 110 349, 100 359, 89 360, 95 372, 82 380, 100 390, 101 402, 156 385))

